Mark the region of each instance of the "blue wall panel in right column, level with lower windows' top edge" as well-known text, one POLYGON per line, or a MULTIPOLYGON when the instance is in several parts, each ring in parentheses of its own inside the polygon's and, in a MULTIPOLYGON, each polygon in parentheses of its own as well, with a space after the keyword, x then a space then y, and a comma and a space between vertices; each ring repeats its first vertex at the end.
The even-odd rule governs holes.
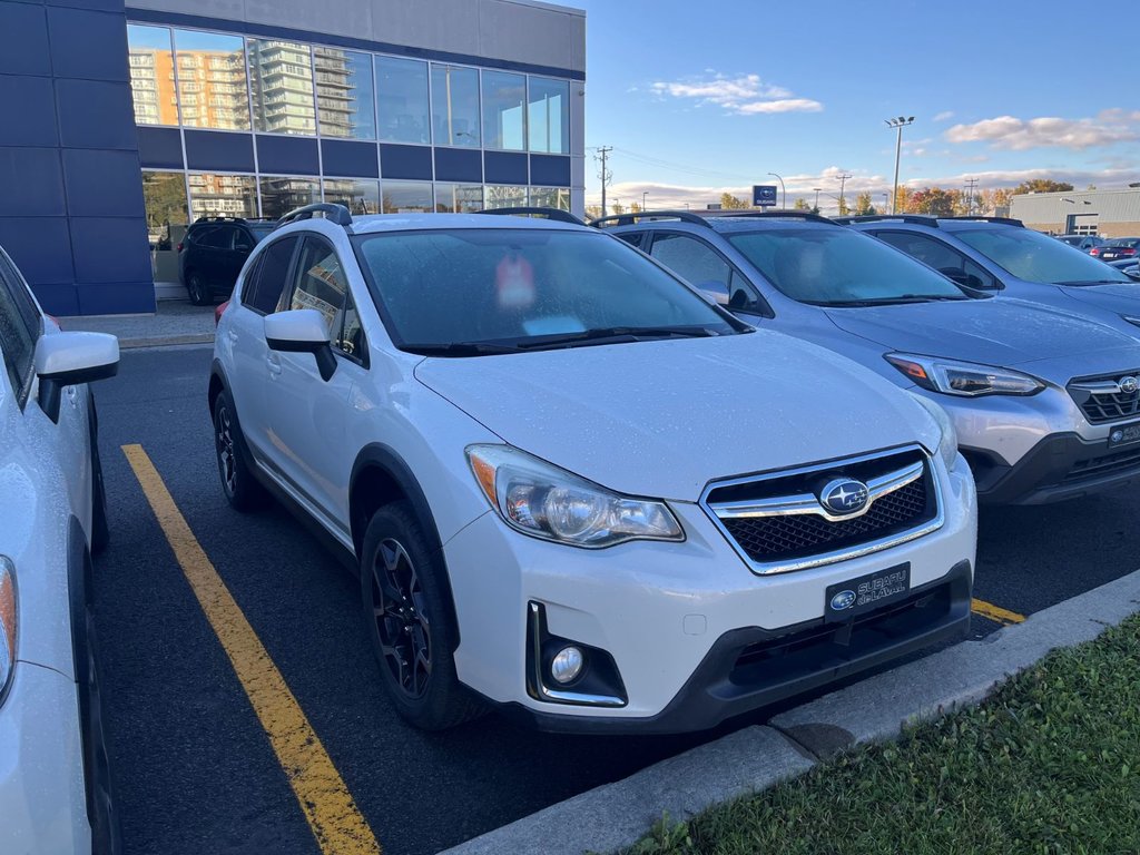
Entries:
POLYGON ((146 215, 136 152, 65 148, 63 156, 68 215, 146 215))

